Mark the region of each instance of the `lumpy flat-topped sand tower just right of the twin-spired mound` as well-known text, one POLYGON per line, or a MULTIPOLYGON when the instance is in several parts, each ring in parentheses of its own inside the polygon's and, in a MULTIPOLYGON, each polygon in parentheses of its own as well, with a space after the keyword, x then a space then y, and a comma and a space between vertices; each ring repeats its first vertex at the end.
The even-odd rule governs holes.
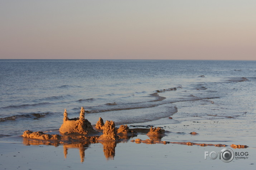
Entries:
POLYGON ((116 135, 115 122, 106 120, 103 134, 100 136, 99 140, 117 140, 119 137, 116 135))

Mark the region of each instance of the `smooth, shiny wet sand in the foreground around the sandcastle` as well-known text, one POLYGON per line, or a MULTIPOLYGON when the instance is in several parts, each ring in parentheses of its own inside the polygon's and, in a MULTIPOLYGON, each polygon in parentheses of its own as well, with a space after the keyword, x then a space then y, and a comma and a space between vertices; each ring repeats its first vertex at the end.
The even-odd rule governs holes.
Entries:
MULTIPOLYGON (((255 169, 255 125, 246 125, 246 119, 194 121, 193 118, 182 118, 178 115, 174 115, 170 121, 181 119, 186 120, 179 124, 159 124, 161 119, 150 122, 165 129, 166 135, 161 141, 171 142, 168 144, 139 144, 131 141, 149 139, 146 132, 138 133, 137 136, 120 143, 51 143, 21 136, 1 138, 0 169, 255 169), (198 134, 192 135, 190 132, 198 134), (228 146, 180 145, 176 142, 228 146), (231 144, 249 147, 233 149, 231 144), (223 148, 230 148, 234 152, 248 152, 248 159, 234 158, 230 163, 209 157, 204 159, 205 151, 218 153, 223 148)), ((137 125, 146 124, 149 122, 137 125)))

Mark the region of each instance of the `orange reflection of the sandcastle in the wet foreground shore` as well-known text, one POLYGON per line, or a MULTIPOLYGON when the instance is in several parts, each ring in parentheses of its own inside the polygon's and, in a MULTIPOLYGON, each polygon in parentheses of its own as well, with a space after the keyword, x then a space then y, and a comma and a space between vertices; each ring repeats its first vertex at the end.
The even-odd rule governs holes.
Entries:
MULTIPOLYGON (((120 143, 116 141, 99 141, 103 145, 103 152, 107 160, 113 160, 115 156, 115 148, 116 144, 120 143)), ((85 150, 90 146, 92 143, 99 143, 99 142, 90 142, 90 141, 76 141, 73 143, 64 143, 60 141, 42 141, 37 139, 31 138, 23 138, 23 144, 25 145, 53 145, 58 147, 59 145, 63 145, 63 153, 64 158, 67 158, 68 149, 77 148, 79 149, 81 162, 84 162, 85 150)))

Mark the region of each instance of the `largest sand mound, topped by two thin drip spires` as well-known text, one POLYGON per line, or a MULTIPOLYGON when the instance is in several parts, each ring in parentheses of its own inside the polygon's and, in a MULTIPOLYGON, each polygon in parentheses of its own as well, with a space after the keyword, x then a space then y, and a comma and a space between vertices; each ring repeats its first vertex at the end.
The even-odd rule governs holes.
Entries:
POLYGON ((84 109, 81 107, 80 117, 69 119, 67 110, 64 111, 63 124, 59 128, 59 132, 64 134, 79 133, 79 134, 88 134, 88 133, 97 133, 93 128, 91 123, 84 119, 84 109))

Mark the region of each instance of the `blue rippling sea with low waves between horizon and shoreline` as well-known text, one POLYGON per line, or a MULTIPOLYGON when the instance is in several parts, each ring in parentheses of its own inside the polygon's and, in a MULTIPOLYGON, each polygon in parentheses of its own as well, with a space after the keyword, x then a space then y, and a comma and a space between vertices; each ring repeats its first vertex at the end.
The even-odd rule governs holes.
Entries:
POLYGON ((0 60, 0 137, 56 130, 82 106, 92 124, 250 119, 255 82, 256 61, 0 60))

